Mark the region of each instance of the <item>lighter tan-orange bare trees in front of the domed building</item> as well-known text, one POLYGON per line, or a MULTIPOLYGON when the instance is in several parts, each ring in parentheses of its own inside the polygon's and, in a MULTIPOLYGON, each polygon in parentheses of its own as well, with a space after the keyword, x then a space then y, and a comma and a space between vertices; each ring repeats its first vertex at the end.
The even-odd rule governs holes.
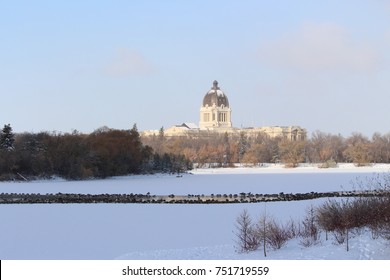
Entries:
POLYGON ((158 135, 144 137, 143 143, 157 151, 182 154, 199 166, 211 163, 216 166, 284 163, 287 167, 296 167, 299 163, 318 163, 327 168, 339 162, 356 166, 390 163, 390 133, 375 133, 369 138, 361 133, 343 137, 315 131, 308 139, 291 141, 283 137, 271 138, 265 133, 253 136, 245 132, 165 137, 160 129, 158 135))

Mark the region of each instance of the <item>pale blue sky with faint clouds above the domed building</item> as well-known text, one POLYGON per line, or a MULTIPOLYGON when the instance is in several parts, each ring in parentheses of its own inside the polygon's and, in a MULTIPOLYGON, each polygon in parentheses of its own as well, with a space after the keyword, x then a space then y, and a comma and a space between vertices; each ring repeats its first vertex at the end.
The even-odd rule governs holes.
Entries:
POLYGON ((0 125, 199 123, 214 80, 235 127, 390 132, 390 0, 0 0, 0 125))

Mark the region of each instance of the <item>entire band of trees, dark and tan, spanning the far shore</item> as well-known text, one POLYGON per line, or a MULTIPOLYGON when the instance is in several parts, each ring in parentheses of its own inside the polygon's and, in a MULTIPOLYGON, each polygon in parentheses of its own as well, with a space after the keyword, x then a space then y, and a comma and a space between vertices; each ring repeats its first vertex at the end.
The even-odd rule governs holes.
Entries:
POLYGON ((14 134, 11 125, 0 131, 0 180, 58 175, 67 179, 106 178, 152 172, 182 172, 199 167, 256 166, 283 163, 339 162, 357 166, 390 163, 390 133, 371 138, 315 131, 310 138, 291 141, 267 134, 210 132, 202 137, 141 137, 137 126, 128 130, 102 127, 90 134, 40 132, 14 134))

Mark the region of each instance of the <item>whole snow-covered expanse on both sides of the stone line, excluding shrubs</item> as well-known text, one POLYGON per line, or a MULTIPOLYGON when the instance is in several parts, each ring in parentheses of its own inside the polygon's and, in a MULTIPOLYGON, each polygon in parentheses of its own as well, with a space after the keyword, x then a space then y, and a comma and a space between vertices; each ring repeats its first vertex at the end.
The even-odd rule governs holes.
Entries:
MULTIPOLYGON (((2 182, 0 192, 224 194, 296 193, 352 189, 352 181, 388 172, 390 166, 322 170, 199 169, 174 175, 126 176, 68 182, 2 182)), ((258 204, 51 204, 0 205, 0 259, 256 259, 237 254, 235 219, 247 209, 255 219, 264 211, 276 220, 302 218, 324 199, 258 204)), ((302 248, 292 240, 270 259, 390 259, 390 244, 368 235, 351 240, 351 251, 331 241, 302 248), (385 246, 384 243, 387 245, 385 246)))

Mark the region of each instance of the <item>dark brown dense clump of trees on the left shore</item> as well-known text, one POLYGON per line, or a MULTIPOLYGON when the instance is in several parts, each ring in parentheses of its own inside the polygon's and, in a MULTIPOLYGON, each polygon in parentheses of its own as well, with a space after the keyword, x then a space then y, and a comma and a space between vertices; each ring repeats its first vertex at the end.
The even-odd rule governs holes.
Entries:
POLYGON ((128 174, 183 172, 191 164, 183 155, 156 153, 141 142, 137 126, 100 128, 90 134, 0 133, 0 180, 60 176, 80 180, 128 174))

